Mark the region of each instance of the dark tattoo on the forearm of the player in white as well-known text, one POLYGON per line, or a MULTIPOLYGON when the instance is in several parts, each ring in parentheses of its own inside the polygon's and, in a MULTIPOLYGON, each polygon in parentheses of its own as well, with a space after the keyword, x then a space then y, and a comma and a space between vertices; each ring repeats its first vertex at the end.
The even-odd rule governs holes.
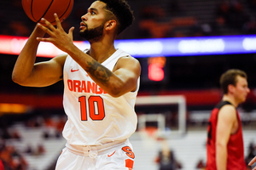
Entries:
POLYGON ((107 68, 94 60, 91 62, 87 62, 87 64, 89 65, 89 67, 86 71, 89 72, 91 76, 99 79, 102 84, 108 85, 108 81, 112 75, 112 72, 108 71, 107 68))

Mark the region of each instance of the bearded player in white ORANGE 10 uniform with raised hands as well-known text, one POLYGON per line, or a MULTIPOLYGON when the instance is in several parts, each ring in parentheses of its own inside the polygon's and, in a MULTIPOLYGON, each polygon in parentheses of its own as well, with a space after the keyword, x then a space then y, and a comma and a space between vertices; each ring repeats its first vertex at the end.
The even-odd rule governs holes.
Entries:
POLYGON ((128 138, 137 127, 134 105, 141 66, 113 42, 133 19, 125 0, 95 1, 81 17, 79 31, 90 49, 77 48, 74 28, 63 31, 55 14, 56 27, 42 19, 44 26, 35 27, 20 52, 14 82, 29 87, 64 82, 68 119, 62 134, 67 144, 55 169, 132 169, 135 156, 128 138), (34 64, 39 42, 51 42, 67 54, 34 64))

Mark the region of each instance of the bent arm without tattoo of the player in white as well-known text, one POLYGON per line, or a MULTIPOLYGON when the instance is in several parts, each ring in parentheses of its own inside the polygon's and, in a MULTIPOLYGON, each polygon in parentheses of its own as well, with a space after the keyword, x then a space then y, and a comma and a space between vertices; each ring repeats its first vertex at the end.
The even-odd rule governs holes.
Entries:
POLYGON ((61 80, 62 66, 67 54, 60 55, 49 61, 35 64, 39 41, 44 31, 35 27, 15 63, 12 79, 22 86, 44 87, 61 80))

